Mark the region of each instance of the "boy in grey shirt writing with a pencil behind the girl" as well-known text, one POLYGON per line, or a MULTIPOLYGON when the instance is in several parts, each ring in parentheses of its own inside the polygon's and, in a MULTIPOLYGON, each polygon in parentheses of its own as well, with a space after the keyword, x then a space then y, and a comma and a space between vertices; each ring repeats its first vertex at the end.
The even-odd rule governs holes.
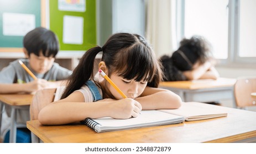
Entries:
MULTIPOLYGON (((18 92, 31 93, 37 90, 58 87, 66 80, 71 71, 60 67, 59 64, 54 63, 55 56, 59 52, 59 40, 53 31, 45 29, 44 27, 36 27, 29 31, 23 38, 23 51, 27 59, 17 59, 11 62, 7 67, 0 72, 0 94, 11 94, 18 92), (19 63, 23 63, 25 68, 31 70, 29 74, 19 63), (34 78, 33 78, 34 76, 34 78)), ((6 112, 10 115, 11 109, 6 105, 6 112)), ((29 111, 19 110, 17 122, 26 124, 29 120, 29 111)), ((7 116, 3 115, 2 123, 8 121, 7 116)), ((4 136, 8 130, 2 125, 4 136)), ((24 129, 23 129, 24 130, 24 129)), ((17 139, 21 129, 17 131, 17 139)), ((30 133, 29 133, 30 135, 30 133)), ((8 142, 9 137, 6 135, 4 141, 8 142)), ((17 142, 26 142, 21 138, 17 142)))

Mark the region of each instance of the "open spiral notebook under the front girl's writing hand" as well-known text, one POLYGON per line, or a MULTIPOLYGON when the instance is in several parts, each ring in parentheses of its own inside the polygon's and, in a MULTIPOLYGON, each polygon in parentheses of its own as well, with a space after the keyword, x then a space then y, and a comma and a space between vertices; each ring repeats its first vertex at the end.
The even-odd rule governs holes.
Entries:
POLYGON ((124 129, 151 127, 182 123, 184 120, 202 120, 225 117, 227 113, 220 111, 218 106, 198 102, 182 103, 178 109, 145 110, 136 118, 113 119, 110 117, 91 119, 86 118, 81 123, 95 130, 97 133, 124 129), (217 108, 215 108, 217 107, 217 108))

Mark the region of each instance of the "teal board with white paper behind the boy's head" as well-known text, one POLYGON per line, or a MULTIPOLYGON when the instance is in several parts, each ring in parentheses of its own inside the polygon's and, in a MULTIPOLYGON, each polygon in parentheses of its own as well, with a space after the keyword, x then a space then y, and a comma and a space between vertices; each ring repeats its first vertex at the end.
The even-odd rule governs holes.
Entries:
POLYGON ((41 7, 41 0, 0 0, 0 52, 22 51, 24 35, 42 24, 41 7))

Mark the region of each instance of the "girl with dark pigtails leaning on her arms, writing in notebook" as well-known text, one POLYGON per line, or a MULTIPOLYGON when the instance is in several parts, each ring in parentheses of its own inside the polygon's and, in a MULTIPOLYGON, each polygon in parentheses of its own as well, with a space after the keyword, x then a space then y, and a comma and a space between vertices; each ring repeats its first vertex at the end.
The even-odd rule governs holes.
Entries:
POLYGON ((139 116, 142 109, 179 108, 181 98, 159 89, 160 80, 159 62, 145 38, 117 33, 103 47, 92 47, 83 55, 61 100, 41 109, 38 119, 41 124, 58 125, 88 117, 127 119, 139 116), (100 52, 102 59, 95 75, 93 63, 100 52), (123 95, 100 72, 105 72, 123 95))

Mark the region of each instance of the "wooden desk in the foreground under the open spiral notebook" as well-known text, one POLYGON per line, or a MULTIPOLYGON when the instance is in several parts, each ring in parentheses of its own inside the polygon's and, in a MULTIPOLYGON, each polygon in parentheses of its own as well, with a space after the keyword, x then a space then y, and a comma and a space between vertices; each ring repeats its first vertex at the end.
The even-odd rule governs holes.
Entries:
POLYGON ((164 125, 106 133, 96 133, 86 125, 47 126, 38 120, 27 128, 43 142, 249 142, 256 141, 256 112, 210 105, 226 109, 228 116, 182 124, 164 125))

